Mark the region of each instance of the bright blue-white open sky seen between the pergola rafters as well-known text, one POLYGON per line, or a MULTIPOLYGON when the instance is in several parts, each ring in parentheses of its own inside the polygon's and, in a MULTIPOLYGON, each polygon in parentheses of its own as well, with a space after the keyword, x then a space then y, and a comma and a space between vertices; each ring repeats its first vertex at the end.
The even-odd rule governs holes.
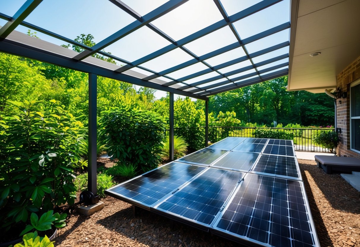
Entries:
MULTIPOLYGON (((0 12, 13 16, 24 2, 25 0, 0 0, 0 12)), ((166 0, 123 0, 123 2, 140 15, 145 15, 158 6, 166 3, 166 0)), ((221 3, 228 15, 238 13, 239 11, 258 2, 260 2, 260 0, 221 0, 221 3)), ((256 14, 235 22, 234 26, 240 37, 245 39, 269 28, 278 26, 279 24, 288 22, 290 15, 289 9, 289 0, 284 0, 267 9, 261 10, 256 14)), ((204 27, 220 21, 221 19, 222 16, 213 0, 189 0, 175 10, 172 10, 166 15, 156 19, 152 22, 152 24, 167 33, 167 35, 172 37, 174 40, 180 40, 204 27)), ((69 39, 75 39, 76 36, 81 33, 91 33, 91 35, 94 36, 94 41, 97 43, 135 21, 135 19, 108 0, 44 0, 25 19, 25 21, 58 33, 69 39)), ((0 19, 0 26, 3 26, 5 23, 5 20, 0 19)), ((27 32, 28 28, 19 26, 16 30, 20 32, 27 32)), ((65 44, 62 40, 57 40, 39 32, 36 35, 40 37, 40 39, 54 44, 65 44)), ((246 49, 249 53, 253 53, 288 40, 289 30, 284 30, 264 39, 252 42, 246 45, 246 49)), ((185 47, 197 56, 201 56, 236 41, 237 40, 230 28, 224 27, 198 40, 186 44, 185 47)), ((149 53, 152 53, 153 51, 161 49, 168 44, 170 44, 169 41, 163 39, 148 27, 142 27, 108 46, 105 48, 105 51, 132 62, 149 53)), ((276 51, 276 54, 284 54, 288 52, 288 49, 288 47, 279 49, 276 51)), ((274 57, 276 54, 262 55, 255 58, 254 62, 261 62, 262 60, 274 57)), ((245 55, 243 49, 237 48, 225 54, 208 59, 206 62, 211 66, 216 66, 231 59, 242 57, 243 55, 245 55)), ((186 62, 192 58, 193 57, 177 48, 167 54, 141 64, 141 66, 160 72, 164 69, 186 62)), ((278 64, 286 61, 288 61, 288 59, 281 60, 278 64)), ((119 64, 121 63, 119 62, 119 64)), ((251 63, 249 61, 245 61, 242 64, 235 64, 232 67, 230 66, 230 68, 221 69, 220 72, 226 73, 239 68, 239 66, 247 66, 250 64, 251 63)), ((274 65, 276 64, 270 64, 267 67, 274 65)), ((204 64, 197 63, 193 66, 170 73, 169 76, 178 79, 205 68, 207 67, 204 64)), ((144 73, 145 75, 151 75, 151 73, 139 68, 134 68, 134 70, 144 73)), ((235 78, 253 71, 246 71, 242 74, 233 75, 231 77, 235 78)), ((206 75, 190 79, 186 82, 192 83, 213 77, 214 75, 218 74, 216 72, 211 72, 206 75)), ((161 77, 160 79, 171 81, 165 77, 161 77)), ((216 81, 212 83, 216 83, 216 81)), ((157 98, 161 98, 165 95, 165 92, 159 90, 156 92, 157 98)))

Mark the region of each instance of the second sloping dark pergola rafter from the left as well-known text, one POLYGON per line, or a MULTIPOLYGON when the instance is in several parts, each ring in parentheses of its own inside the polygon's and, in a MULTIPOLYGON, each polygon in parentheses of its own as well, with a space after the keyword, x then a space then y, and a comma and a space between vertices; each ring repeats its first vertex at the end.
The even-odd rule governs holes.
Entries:
POLYGON ((110 35, 106 39, 100 41, 98 44, 91 47, 91 50, 82 51, 80 54, 73 57, 76 60, 82 60, 87 58, 98 51, 104 49, 105 47, 113 44, 114 42, 120 40, 121 38, 129 35, 130 33, 138 30, 141 27, 146 26, 150 22, 156 20, 157 18, 167 14, 171 10, 177 8, 181 4, 187 2, 188 0, 169 0, 165 4, 159 6, 158 8, 154 9, 153 11, 149 12, 148 14, 141 17, 139 20, 136 20, 126 27, 122 28, 121 30, 117 31, 116 33, 110 35))

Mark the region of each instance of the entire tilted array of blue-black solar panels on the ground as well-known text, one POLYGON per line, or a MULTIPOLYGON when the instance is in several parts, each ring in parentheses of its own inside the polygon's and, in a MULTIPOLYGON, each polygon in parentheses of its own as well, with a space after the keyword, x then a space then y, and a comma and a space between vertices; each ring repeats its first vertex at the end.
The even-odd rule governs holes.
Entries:
POLYGON ((105 193, 244 244, 320 246, 290 140, 225 138, 105 193))

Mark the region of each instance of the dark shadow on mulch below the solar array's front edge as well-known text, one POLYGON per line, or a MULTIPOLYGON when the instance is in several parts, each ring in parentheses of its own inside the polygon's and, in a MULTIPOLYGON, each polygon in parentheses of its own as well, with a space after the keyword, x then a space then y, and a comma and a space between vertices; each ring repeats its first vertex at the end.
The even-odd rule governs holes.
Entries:
POLYGON ((136 208, 135 216, 133 207, 129 207, 98 220, 96 223, 128 238, 136 238, 138 243, 149 244, 150 246, 151 241, 165 245, 169 245, 166 242, 170 241, 171 246, 174 243, 176 246, 181 243, 187 243, 191 246, 239 246, 236 242, 172 221, 141 208, 136 208), (116 222, 116 225, 112 224, 113 222, 116 222), (130 223, 134 223, 133 227, 129 227, 130 223), (155 238, 153 238, 153 234, 155 234, 155 238))

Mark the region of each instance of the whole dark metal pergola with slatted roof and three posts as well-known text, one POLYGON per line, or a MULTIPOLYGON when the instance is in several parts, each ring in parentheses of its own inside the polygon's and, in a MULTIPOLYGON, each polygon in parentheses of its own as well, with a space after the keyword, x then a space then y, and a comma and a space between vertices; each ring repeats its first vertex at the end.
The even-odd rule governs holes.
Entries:
MULTIPOLYGON (((27 22, 26 18, 42 4, 42 0, 25 1, 13 16, 2 13, 3 11, 0 6, 0 18, 5 20, 5 24, 0 28, 0 51, 89 73, 89 191, 93 194, 96 194, 96 81, 98 75, 170 93, 171 160, 174 159, 174 94, 205 100, 207 120, 208 96, 288 75, 289 35, 285 40, 275 39, 274 41, 272 39, 272 42, 270 42, 269 39, 282 31, 289 33, 290 16, 287 17, 288 21, 285 23, 277 23, 267 30, 261 30, 250 36, 245 35, 246 38, 242 38, 242 33, 239 32, 237 26, 239 21, 252 17, 255 14, 261 14, 266 9, 276 8, 278 4, 289 2, 289 0, 263 0, 231 15, 227 13, 229 10, 226 9, 221 0, 208 0, 208 4, 215 3, 222 19, 179 40, 174 40, 170 35, 156 27, 153 22, 166 14, 171 14, 172 10, 179 8, 186 2, 197 0, 168 0, 143 16, 120 0, 108 1, 113 4, 114 8, 120 8, 124 15, 130 15, 132 18, 135 18, 135 21, 92 47, 27 22), (20 26, 36 30, 85 50, 78 53, 51 42, 31 37, 15 30, 15 28, 20 26), (110 45, 142 27, 149 28, 170 42, 170 44, 132 61, 127 61, 103 51, 103 49, 108 48, 110 45), (201 55, 197 55, 197 52, 187 48, 187 45, 192 44, 192 42, 196 42, 203 37, 207 37, 207 35, 224 29, 231 31, 232 38, 235 37, 236 42, 217 47, 201 55), (257 42, 266 45, 257 46, 257 42), (247 45, 259 47, 259 49, 249 51, 247 45), (178 48, 189 55, 191 59, 186 62, 179 62, 175 66, 169 66, 162 71, 154 71, 145 66, 145 63, 153 59, 161 59, 164 55, 178 48), (241 49, 241 53, 238 52, 239 49, 241 49), (240 55, 231 60, 217 60, 221 55, 229 53, 240 55), (118 64, 92 57, 94 54, 112 58, 118 64), (212 59, 213 62, 210 63, 209 59, 212 59), (186 68, 199 64, 202 65, 203 69, 195 72, 185 72, 186 68), (138 71, 143 71, 144 73, 138 71), (180 77, 174 78, 172 76, 174 72, 182 71, 184 72, 180 73, 180 77)), ((253 25, 250 28, 256 30, 256 25, 258 24, 253 23, 253 25)), ((176 60, 176 58, 174 59, 176 60)), ((208 121, 206 121, 207 132, 208 121)), ((205 145, 207 145, 207 134, 205 145)))

